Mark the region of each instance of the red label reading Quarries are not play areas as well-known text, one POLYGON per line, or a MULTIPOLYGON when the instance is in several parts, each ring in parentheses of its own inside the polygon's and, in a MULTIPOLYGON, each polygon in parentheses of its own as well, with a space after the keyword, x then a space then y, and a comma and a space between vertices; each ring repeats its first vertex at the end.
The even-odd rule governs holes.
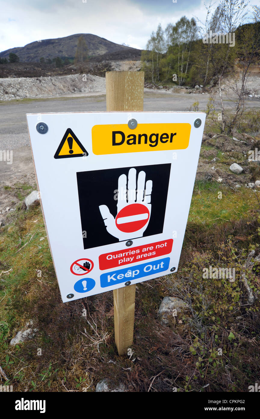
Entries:
POLYGON ((99 256, 99 269, 105 270, 117 266, 136 263, 145 259, 153 259, 158 256, 171 253, 173 239, 158 241, 131 249, 119 250, 116 252, 104 253, 99 256))

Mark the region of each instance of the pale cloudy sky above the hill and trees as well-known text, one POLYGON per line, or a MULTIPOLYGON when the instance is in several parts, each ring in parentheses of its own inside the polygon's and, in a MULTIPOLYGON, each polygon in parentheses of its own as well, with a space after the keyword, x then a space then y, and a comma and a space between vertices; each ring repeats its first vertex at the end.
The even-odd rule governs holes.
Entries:
MULTIPOLYGON (((159 23, 164 29, 184 15, 203 20, 204 2, 209 4, 209 0, 0 0, 0 52, 80 33, 144 49, 159 23)), ((252 4, 260 5, 260 0, 252 4)))

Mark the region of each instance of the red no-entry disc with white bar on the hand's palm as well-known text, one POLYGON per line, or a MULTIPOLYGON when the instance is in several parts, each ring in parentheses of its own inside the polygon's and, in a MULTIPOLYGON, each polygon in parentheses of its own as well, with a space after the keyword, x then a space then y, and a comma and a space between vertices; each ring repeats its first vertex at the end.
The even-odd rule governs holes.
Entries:
POLYGON ((149 220, 149 210, 143 204, 130 204, 117 214, 115 223, 124 233, 133 233, 140 230, 149 220))

